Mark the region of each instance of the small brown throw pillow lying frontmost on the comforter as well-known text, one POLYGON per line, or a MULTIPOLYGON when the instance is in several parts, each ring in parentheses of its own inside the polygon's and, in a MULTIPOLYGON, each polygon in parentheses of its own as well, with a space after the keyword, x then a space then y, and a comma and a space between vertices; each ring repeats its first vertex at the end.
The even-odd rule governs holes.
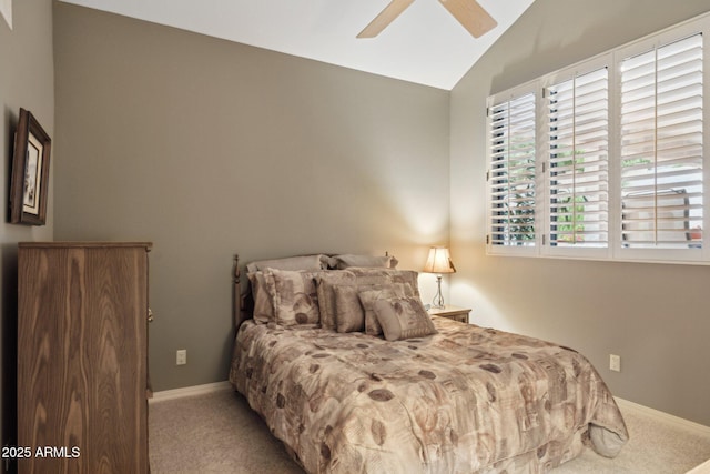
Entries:
POLYGON ((437 333, 429 314, 416 296, 377 300, 374 311, 387 341, 402 341, 437 333))

